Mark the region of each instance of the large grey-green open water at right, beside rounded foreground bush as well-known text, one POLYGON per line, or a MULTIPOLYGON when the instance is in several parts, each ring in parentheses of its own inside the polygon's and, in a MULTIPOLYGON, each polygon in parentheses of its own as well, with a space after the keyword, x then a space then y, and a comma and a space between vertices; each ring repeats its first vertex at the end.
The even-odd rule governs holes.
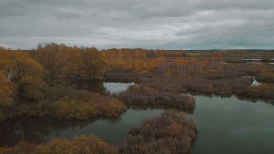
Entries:
POLYGON ((273 153, 274 106, 263 101, 194 96, 198 124, 191 153, 273 153))

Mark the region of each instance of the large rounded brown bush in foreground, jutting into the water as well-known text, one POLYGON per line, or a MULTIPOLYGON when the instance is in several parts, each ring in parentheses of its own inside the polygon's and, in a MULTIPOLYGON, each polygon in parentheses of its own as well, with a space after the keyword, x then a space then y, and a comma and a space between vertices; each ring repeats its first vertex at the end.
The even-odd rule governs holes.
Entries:
POLYGON ((197 128, 184 114, 169 110, 159 117, 131 128, 120 153, 188 153, 197 128))

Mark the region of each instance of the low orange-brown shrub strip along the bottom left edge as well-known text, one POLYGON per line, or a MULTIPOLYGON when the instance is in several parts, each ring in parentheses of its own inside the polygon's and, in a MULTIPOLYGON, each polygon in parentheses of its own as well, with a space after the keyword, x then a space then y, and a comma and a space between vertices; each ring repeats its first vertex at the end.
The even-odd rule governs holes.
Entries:
POLYGON ((75 136, 72 140, 55 139, 47 144, 35 145, 20 141, 17 146, 0 148, 2 154, 61 154, 61 153, 118 153, 118 148, 108 145, 94 135, 75 136))

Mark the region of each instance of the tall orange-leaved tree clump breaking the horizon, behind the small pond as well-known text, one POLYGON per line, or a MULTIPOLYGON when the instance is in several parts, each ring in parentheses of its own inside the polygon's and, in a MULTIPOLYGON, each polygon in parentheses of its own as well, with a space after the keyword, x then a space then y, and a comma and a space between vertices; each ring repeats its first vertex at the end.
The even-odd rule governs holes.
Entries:
POLYGON ((39 44, 30 55, 37 59, 45 69, 48 83, 74 78, 94 79, 104 73, 107 58, 96 48, 68 47, 63 44, 39 44))

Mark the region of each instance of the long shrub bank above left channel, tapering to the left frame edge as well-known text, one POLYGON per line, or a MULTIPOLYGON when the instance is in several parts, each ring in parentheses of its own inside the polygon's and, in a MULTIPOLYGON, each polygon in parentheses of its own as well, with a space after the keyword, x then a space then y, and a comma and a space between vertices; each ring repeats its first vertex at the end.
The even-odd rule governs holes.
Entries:
POLYGON ((122 101, 110 96, 101 96, 86 90, 73 90, 64 86, 50 90, 43 101, 22 103, 0 110, 0 120, 22 115, 33 117, 51 115, 60 120, 87 120, 98 116, 116 117, 126 110, 126 105, 122 101))

